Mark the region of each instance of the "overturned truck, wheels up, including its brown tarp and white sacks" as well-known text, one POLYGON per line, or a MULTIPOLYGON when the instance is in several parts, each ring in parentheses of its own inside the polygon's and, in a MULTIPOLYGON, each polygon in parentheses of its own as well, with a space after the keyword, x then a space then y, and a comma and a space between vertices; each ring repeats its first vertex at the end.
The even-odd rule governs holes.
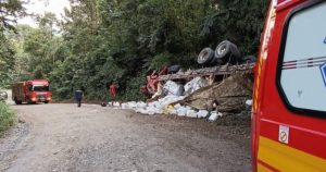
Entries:
POLYGON ((246 100, 251 99, 254 57, 241 57, 237 46, 223 41, 215 51, 203 49, 198 63, 201 69, 183 71, 174 65, 147 76, 147 86, 141 88, 149 96, 145 109, 185 115, 189 111, 190 116, 200 116, 203 111, 234 113, 246 109, 246 100))

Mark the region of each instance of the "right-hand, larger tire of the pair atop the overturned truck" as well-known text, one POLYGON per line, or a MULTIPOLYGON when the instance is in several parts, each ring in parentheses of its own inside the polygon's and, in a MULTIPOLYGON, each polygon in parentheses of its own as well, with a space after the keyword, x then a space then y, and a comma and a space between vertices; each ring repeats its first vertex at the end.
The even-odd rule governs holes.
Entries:
POLYGON ((215 49, 215 58, 221 64, 231 63, 236 64, 241 62, 241 54, 238 47, 228 41, 222 41, 215 49))

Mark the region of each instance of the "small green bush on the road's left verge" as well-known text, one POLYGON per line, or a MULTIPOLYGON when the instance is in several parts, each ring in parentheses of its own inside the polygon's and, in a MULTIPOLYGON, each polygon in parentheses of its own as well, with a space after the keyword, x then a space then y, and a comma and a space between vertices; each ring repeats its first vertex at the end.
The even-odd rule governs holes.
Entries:
POLYGON ((5 102, 0 102, 0 135, 13 125, 16 119, 15 113, 5 102))

